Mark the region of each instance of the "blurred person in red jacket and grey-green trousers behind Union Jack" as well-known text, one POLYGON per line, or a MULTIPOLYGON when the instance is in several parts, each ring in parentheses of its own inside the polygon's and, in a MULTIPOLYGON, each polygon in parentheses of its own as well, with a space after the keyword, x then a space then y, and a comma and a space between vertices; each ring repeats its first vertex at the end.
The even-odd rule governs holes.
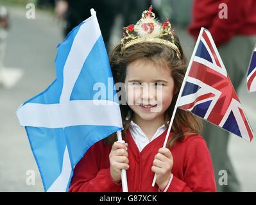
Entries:
MULTIPOLYGON (((242 79, 246 78, 248 63, 256 43, 256 1, 194 0, 192 23, 188 30, 195 40, 201 27, 209 29, 212 34, 228 75, 237 90, 242 79)), ((203 136, 212 156, 218 192, 241 192, 227 153, 229 133, 205 123, 203 136), (221 170, 228 173, 228 184, 222 186, 218 183, 221 170)))

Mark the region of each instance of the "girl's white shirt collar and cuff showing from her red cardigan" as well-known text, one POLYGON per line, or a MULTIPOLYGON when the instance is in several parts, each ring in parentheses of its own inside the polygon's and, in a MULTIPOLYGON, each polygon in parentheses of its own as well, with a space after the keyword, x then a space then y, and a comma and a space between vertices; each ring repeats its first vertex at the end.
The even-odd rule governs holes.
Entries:
MULTIPOLYGON (((157 129, 157 131, 155 132, 155 134, 151 137, 150 141, 148 140, 148 137, 145 135, 145 133, 142 131, 141 127, 138 126, 137 124, 135 124, 133 121, 131 121, 129 129, 130 129, 130 133, 132 134, 132 138, 133 138, 134 142, 136 143, 139 151, 141 152, 142 149, 144 147, 146 147, 146 145, 148 145, 149 142, 155 140, 155 138, 162 135, 162 133, 164 133, 164 131, 166 131, 166 126, 164 124, 162 126, 160 126, 157 129)), ((173 179, 173 174, 171 174, 171 177, 169 179, 169 182, 168 182, 166 188, 164 189, 164 192, 166 192, 167 189, 169 188, 172 179, 173 179)), ((159 189, 158 189, 158 192, 160 192, 159 189)))

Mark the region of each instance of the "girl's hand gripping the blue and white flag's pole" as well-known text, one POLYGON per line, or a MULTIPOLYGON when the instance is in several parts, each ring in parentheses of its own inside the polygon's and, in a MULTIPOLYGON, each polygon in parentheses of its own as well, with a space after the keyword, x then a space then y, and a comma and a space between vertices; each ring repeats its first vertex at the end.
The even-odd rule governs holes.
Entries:
POLYGON ((110 174, 115 183, 121 181, 121 169, 128 170, 128 143, 115 142, 109 154, 110 174))

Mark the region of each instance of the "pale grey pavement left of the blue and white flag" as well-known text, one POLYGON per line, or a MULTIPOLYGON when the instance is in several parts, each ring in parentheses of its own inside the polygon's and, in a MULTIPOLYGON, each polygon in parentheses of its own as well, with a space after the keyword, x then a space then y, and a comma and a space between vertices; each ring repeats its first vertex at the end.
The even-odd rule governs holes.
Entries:
POLYGON ((48 12, 36 10, 26 19, 26 7, 11 8, 11 29, 7 38, 6 67, 21 68, 21 80, 12 88, 0 87, 0 191, 42 192, 38 168, 28 137, 19 126, 15 111, 22 102, 47 88, 55 79, 56 45, 62 40, 60 27, 48 12), (35 186, 26 179, 35 171, 35 186))

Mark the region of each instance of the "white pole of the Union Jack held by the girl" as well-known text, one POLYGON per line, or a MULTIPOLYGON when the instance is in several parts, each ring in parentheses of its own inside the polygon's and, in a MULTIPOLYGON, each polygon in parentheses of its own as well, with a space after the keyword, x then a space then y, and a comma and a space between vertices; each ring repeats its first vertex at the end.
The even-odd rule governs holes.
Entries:
MULTIPOLYGON (((204 28, 202 27, 201 30, 200 30, 200 34, 198 35, 198 40, 196 41, 196 45, 194 46, 194 51, 192 53, 191 60, 189 61, 189 65, 187 67, 187 71, 185 73, 185 76, 184 76, 184 79, 183 79, 183 82, 182 82, 182 86, 180 87, 180 92, 179 92, 178 97, 177 97, 175 108, 173 109, 173 115, 171 115, 171 120, 170 120, 170 123, 169 123, 169 127, 168 127, 168 130, 167 130, 167 134, 166 134, 166 138, 164 140, 163 147, 166 147, 167 139, 168 139, 168 136, 169 136, 170 131, 171 131, 171 126, 173 125, 173 120, 175 119, 176 110, 178 108, 178 102, 180 101, 180 97, 182 96, 183 88, 185 86, 187 76, 189 75, 189 70, 191 69, 193 58, 196 55, 196 49, 198 48, 198 44, 200 43, 200 38, 201 38, 201 35, 203 34, 203 30, 204 30, 204 28)), ((152 186, 155 186, 156 179, 157 179, 157 176, 155 174, 153 182, 152 182, 152 186)))

